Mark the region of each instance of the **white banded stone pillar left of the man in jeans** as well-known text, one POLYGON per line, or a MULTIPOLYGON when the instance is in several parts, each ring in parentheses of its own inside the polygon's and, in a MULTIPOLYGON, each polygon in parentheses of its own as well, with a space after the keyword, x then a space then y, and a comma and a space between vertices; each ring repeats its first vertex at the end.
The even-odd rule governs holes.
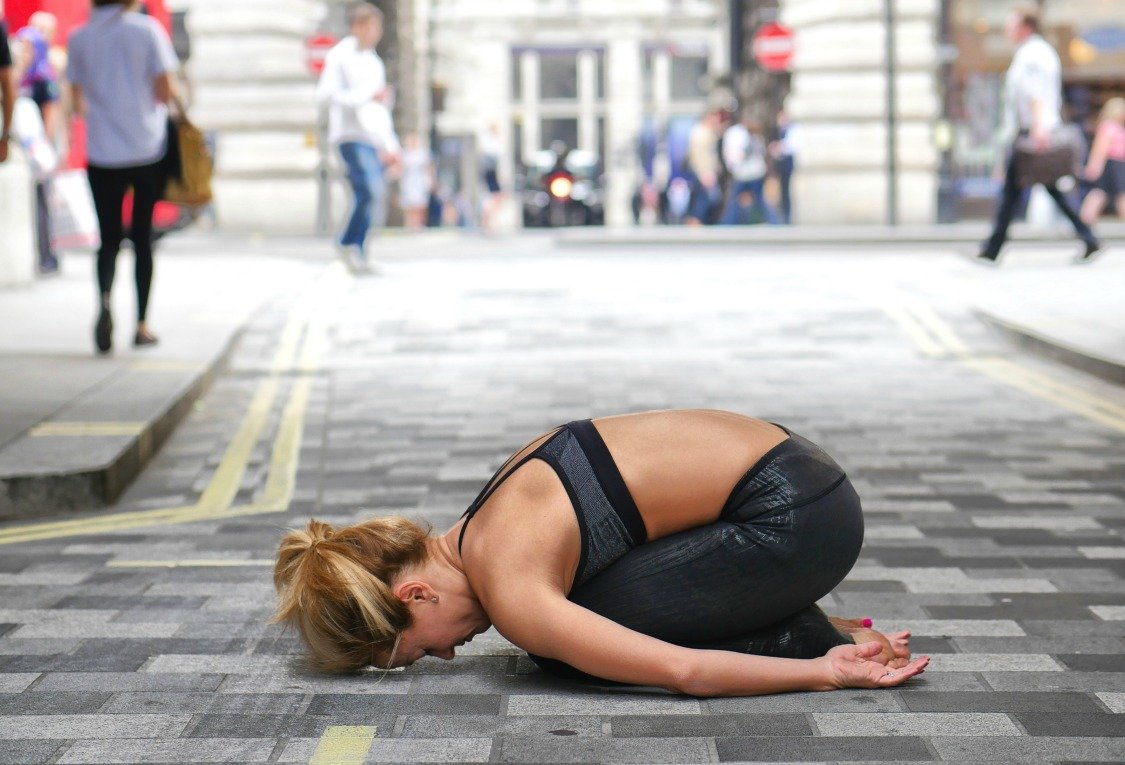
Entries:
MULTIPOLYGON (((317 107, 305 38, 315 0, 180 0, 188 11, 192 119, 217 143, 215 207, 224 228, 312 234, 317 107)), ((342 205, 334 210, 339 217, 342 205)))

